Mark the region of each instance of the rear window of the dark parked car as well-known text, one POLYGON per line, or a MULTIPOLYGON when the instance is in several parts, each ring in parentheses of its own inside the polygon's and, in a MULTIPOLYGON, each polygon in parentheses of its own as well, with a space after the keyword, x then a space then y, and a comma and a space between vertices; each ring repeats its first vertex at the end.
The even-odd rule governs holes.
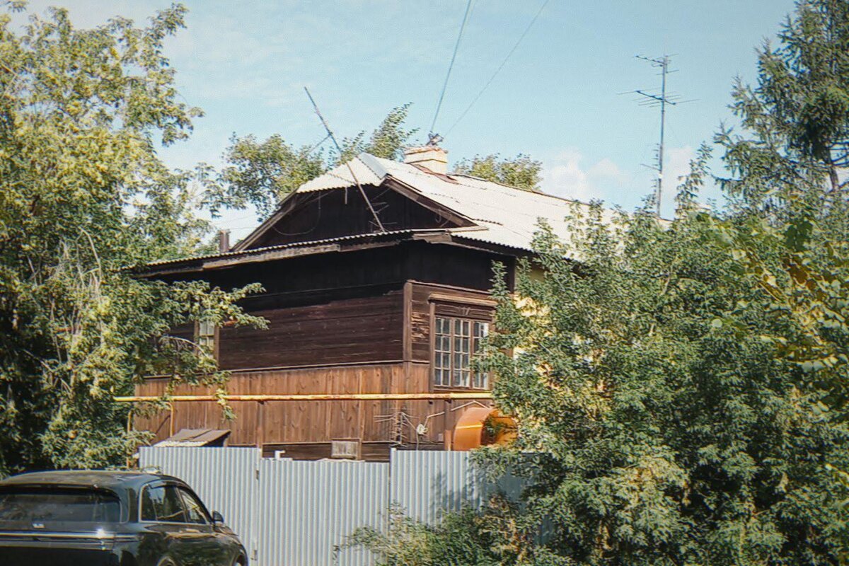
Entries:
POLYGON ((118 497, 98 490, 65 488, 0 489, 0 522, 116 523, 118 497))

